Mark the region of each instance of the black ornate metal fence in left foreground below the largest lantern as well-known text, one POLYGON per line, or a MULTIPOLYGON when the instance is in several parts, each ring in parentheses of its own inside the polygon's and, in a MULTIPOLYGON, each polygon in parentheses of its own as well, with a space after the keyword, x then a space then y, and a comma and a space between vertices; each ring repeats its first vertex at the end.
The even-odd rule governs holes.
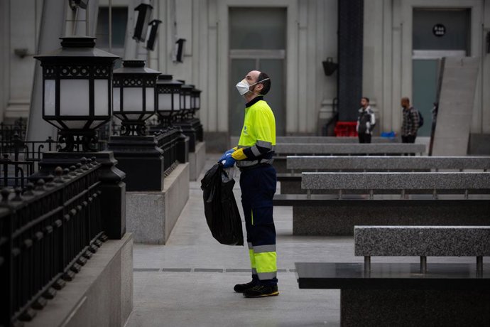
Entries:
POLYGON ((26 191, 1 190, 0 326, 30 321, 107 240, 102 230, 101 164, 82 159, 26 191))

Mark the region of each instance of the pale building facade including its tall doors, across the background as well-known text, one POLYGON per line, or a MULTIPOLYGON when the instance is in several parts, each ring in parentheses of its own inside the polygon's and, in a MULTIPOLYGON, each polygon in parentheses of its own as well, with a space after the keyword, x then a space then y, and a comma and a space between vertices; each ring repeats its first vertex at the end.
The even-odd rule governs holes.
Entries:
MULTIPOLYGON (((327 76, 322 68, 327 58, 339 60, 337 1, 153 0, 152 19, 162 23, 148 51, 131 38, 141 0, 112 0, 111 50, 203 90, 199 115, 212 149, 239 133, 244 103, 234 85, 253 69, 271 75, 267 98, 278 134, 321 134, 337 97, 338 72, 327 76), (182 62, 175 61, 178 39, 185 39, 182 62)), ((109 0, 90 2, 98 5, 90 31, 107 48, 109 0)), ((66 33, 80 19, 70 10, 61 20, 66 33)), ((0 15, 0 114, 7 121, 28 117, 43 0, 0 1, 0 15)), ((490 133, 489 0, 369 0, 362 25, 362 95, 378 114, 376 134, 399 132, 403 96, 430 120, 440 58, 450 55, 479 58, 471 132, 490 133)))

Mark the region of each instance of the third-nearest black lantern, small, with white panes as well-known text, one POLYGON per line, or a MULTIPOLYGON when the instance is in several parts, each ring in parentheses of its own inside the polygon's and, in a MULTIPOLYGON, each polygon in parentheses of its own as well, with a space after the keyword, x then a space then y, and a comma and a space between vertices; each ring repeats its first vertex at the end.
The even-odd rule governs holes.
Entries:
POLYGON ((160 75, 156 82, 157 113, 163 125, 170 124, 180 112, 180 89, 183 82, 173 80, 172 75, 160 75))

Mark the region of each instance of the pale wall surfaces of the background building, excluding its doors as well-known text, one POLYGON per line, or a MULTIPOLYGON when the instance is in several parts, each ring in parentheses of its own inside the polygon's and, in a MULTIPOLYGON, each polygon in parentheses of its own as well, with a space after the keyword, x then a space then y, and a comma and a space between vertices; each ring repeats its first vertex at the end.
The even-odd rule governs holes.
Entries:
MULTIPOLYGON (((0 1, 0 114, 26 115, 31 95, 33 59, 18 58, 13 48, 36 49, 42 0, 0 1), (34 4, 34 5, 33 5, 34 4), (16 72, 12 74, 11 72, 16 72), (4 110, 4 112, 2 112, 4 110)), ((112 0, 132 6, 138 0, 112 0)), ((99 0, 107 6, 109 0, 99 0)), ((322 60, 337 62, 337 0, 158 0, 153 18, 160 24, 155 51, 143 44, 135 55, 162 73, 195 84, 203 92, 198 113, 207 132, 227 132, 230 6, 282 6, 288 9, 286 53, 286 115, 288 134, 315 134, 319 112, 328 117, 337 94, 337 73, 325 76, 322 60), (185 38, 184 63, 174 63, 176 38, 185 38)), ((484 53, 490 31, 490 0, 366 0, 364 1, 363 95, 379 110, 379 131, 399 131, 400 98, 412 96, 412 11, 414 6, 472 8, 472 55, 481 58, 481 72, 472 132, 490 133, 490 55, 484 53)), ((128 38, 131 39, 132 23, 128 38)), ((135 56, 133 55, 133 56, 135 56)))

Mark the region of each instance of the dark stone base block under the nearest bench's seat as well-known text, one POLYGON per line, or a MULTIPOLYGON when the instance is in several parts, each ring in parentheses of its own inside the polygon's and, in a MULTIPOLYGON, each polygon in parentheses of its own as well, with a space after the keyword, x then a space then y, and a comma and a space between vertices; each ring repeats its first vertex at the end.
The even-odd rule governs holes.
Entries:
POLYGON ((484 289, 342 289, 341 326, 488 326, 484 289))

